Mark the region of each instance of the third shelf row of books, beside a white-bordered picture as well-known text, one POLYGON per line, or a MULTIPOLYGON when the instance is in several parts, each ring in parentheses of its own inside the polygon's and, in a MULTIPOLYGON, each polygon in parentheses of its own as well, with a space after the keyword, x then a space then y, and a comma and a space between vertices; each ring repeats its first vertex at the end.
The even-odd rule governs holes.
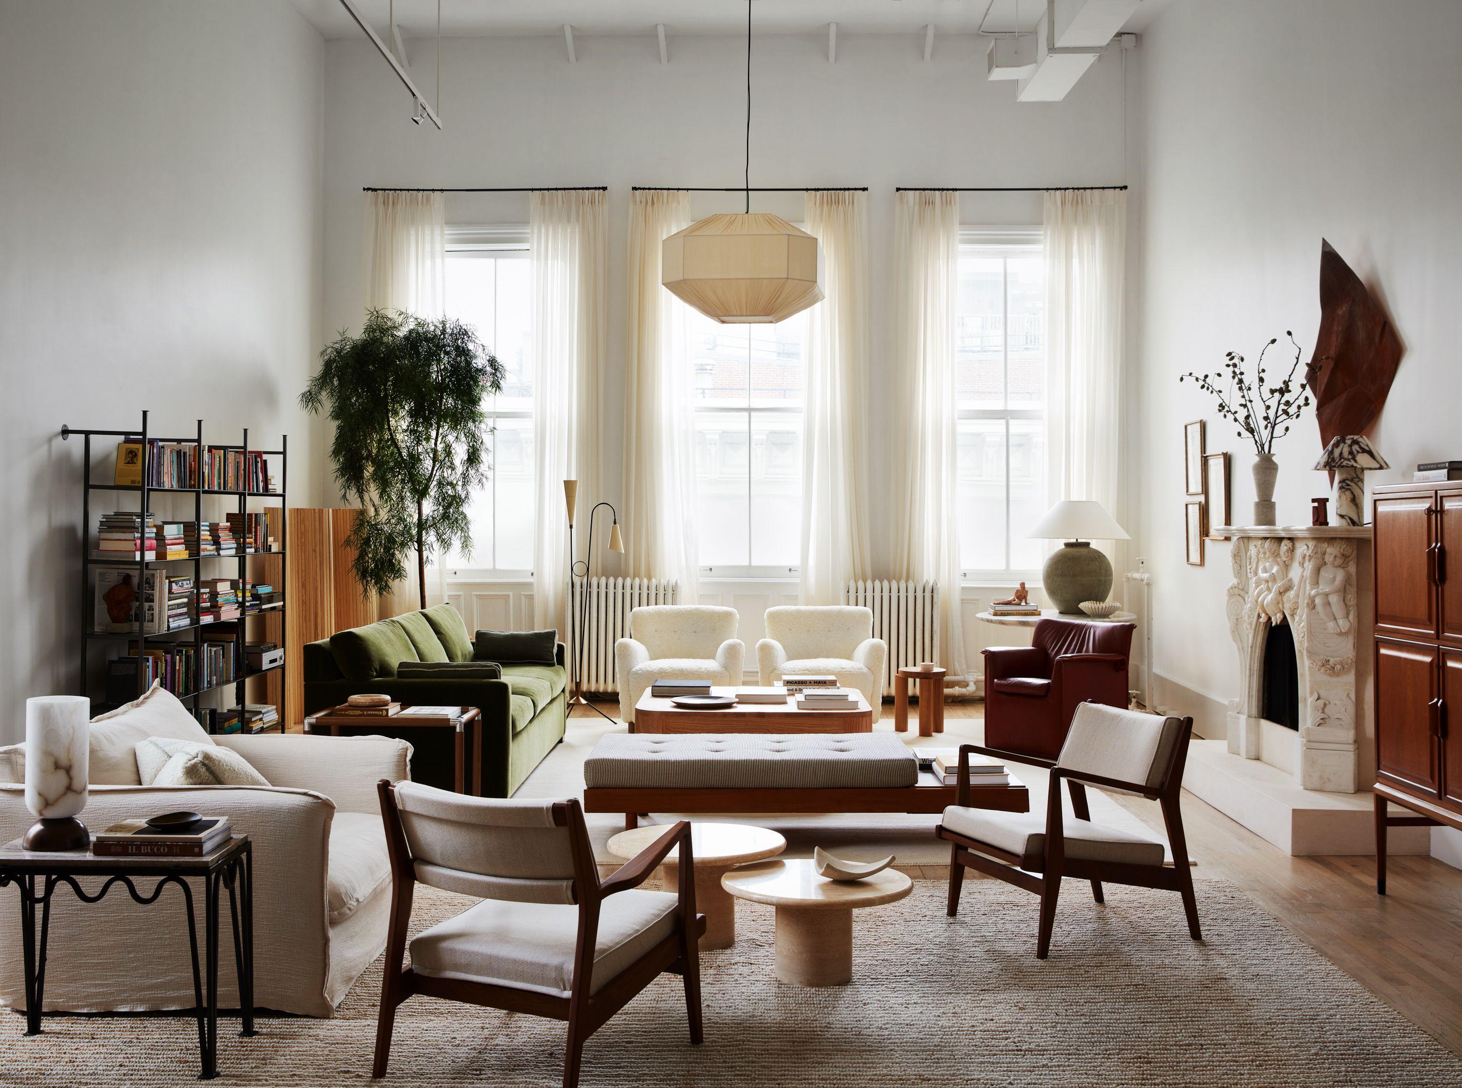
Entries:
POLYGON ((162 570, 145 570, 139 594, 136 570, 98 567, 92 578, 98 635, 165 635, 284 607, 284 594, 278 588, 251 579, 168 578, 162 570))

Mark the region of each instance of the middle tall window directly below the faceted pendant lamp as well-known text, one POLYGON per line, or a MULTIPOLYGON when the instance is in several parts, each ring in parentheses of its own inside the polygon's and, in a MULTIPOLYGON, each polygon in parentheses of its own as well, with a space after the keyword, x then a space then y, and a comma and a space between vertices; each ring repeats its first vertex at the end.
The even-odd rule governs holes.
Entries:
POLYGON ((787 575, 801 554, 807 311, 776 325, 690 320, 700 563, 787 575))

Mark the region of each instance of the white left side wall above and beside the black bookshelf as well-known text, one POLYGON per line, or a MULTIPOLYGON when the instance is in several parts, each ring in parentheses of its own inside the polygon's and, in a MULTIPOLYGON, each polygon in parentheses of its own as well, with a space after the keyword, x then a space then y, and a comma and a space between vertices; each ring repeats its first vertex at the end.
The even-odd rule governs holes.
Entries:
POLYGON ((291 505, 317 497, 295 398, 322 342, 323 53, 285 0, 0 0, 0 743, 26 696, 76 690, 61 424, 288 433, 291 505))

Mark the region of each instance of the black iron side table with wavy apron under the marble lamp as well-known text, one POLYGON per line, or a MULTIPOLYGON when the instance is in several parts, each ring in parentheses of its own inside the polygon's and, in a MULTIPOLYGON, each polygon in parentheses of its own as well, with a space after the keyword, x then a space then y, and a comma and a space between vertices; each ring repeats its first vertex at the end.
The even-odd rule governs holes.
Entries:
POLYGON ((25 1034, 41 1034, 41 1005, 45 996, 45 942, 51 924, 51 896, 69 885, 82 902, 98 902, 113 885, 120 883, 139 904, 156 902, 170 883, 183 889, 187 907, 189 951, 193 955, 193 1013, 197 1019, 197 1047, 203 1072, 199 1079, 218 1076, 218 907, 221 886, 228 889, 228 913, 234 923, 234 965, 238 971, 238 1005, 244 1038, 254 1034, 254 866, 247 835, 203 857, 95 857, 89 850, 38 853, 20 848, 20 839, 0 847, 0 888, 15 883, 20 889, 20 942, 25 956, 25 1034), (104 876, 95 894, 82 891, 77 877, 104 876), (197 920, 193 911, 190 877, 203 880, 205 971, 197 962, 197 920), (155 879, 151 894, 137 891, 133 880, 155 879), (39 939, 35 933, 37 908, 41 914, 39 939), (206 990, 206 994, 205 994, 206 990))

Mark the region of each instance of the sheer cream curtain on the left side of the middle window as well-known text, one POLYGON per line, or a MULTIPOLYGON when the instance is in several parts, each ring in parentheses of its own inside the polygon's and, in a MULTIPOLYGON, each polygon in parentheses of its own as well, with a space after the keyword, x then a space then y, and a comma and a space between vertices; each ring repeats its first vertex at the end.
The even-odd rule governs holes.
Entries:
POLYGON ((680 579, 680 600, 694 604, 696 434, 687 314, 659 282, 661 243, 689 225, 689 193, 632 193, 620 524, 630 576, 680 579))

